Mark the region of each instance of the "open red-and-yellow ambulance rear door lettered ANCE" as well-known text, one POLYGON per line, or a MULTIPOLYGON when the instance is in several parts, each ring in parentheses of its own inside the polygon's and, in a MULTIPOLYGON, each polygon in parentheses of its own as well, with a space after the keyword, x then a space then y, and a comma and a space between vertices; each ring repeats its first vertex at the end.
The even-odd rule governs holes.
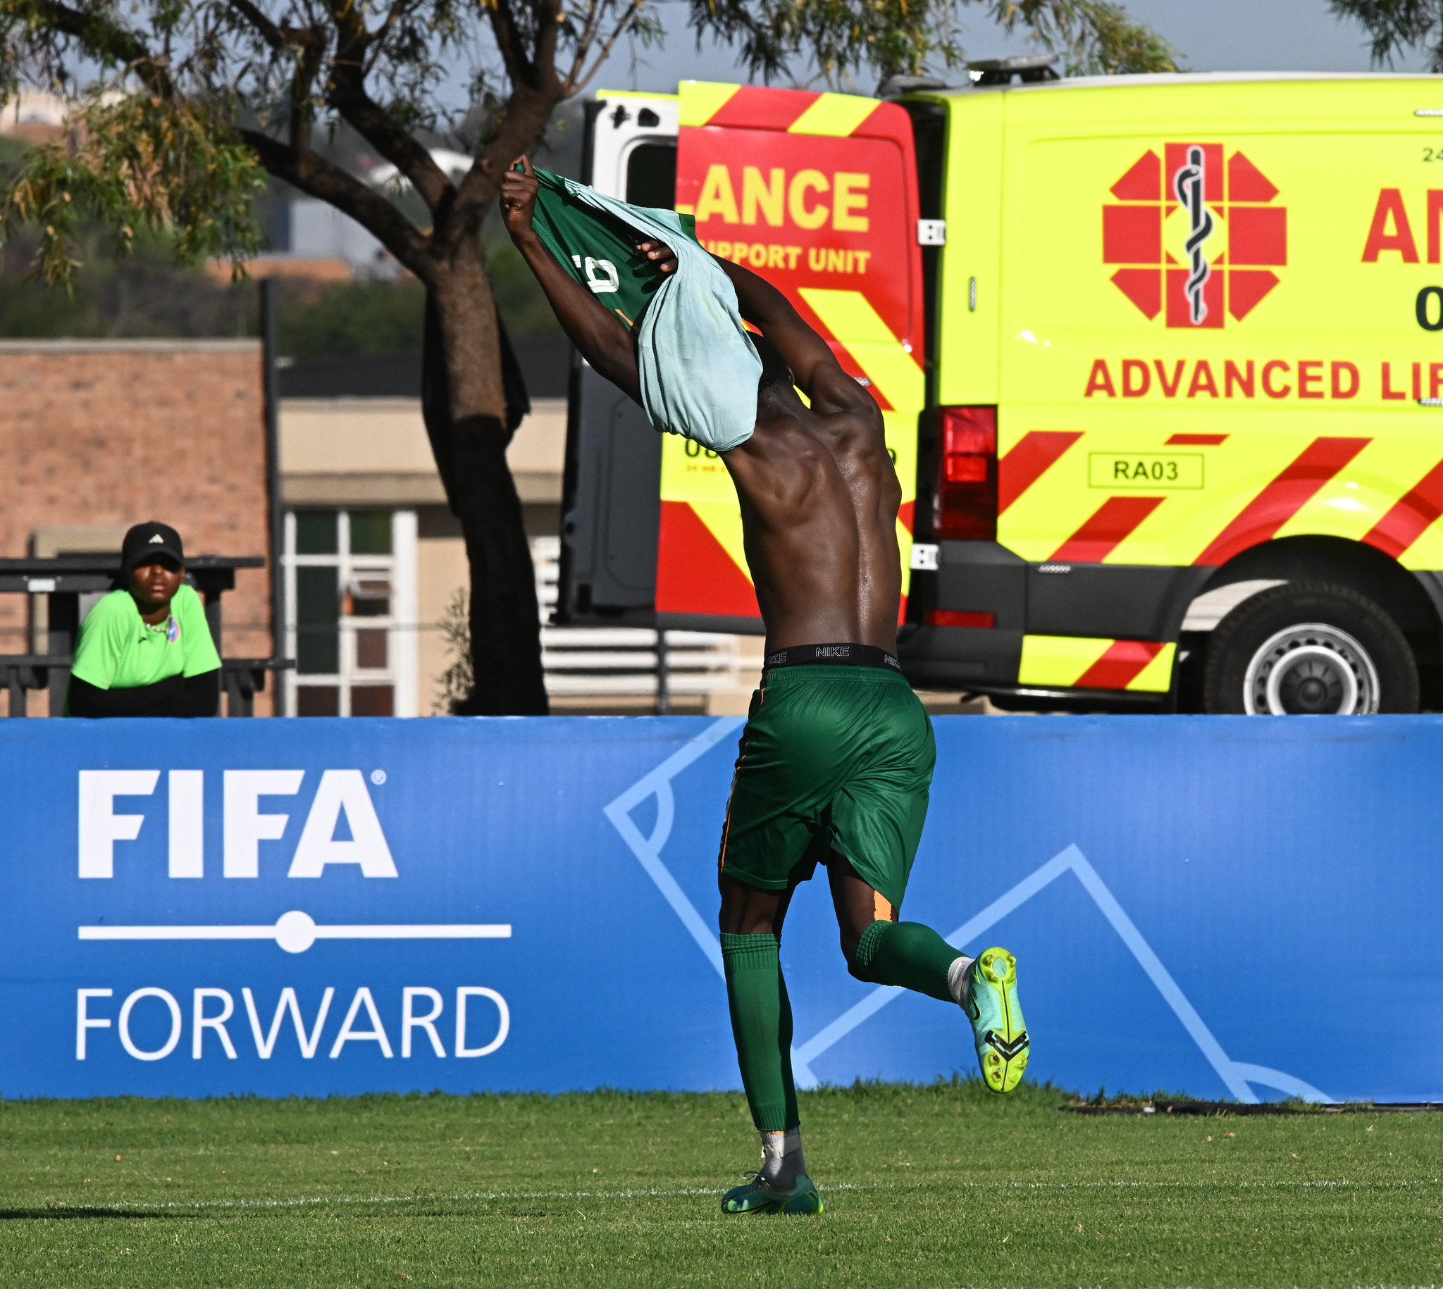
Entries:
MULTIPOLYGON (((678 105, 677 211, 696 215, 709 251, 784 291, 882 407, 906 578, 925 385, 912 123, 873 98, 697 81, 678 105)), ((664 435, 659 496, 658 623, 760 633, 720 457, 664 435)))

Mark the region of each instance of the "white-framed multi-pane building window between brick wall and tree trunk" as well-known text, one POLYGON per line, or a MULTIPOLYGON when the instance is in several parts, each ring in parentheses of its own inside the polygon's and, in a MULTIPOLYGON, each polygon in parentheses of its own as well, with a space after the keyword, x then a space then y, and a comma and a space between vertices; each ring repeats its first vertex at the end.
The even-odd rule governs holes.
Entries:
POLYGON ((286 515, 289 717, 416 715, 416 512, 286 515))

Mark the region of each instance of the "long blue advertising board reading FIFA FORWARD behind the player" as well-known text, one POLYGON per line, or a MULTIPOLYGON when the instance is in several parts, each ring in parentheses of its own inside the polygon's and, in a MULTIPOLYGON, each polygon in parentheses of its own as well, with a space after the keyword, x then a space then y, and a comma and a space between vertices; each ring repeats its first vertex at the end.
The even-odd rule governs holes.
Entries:
MULTIPOLYGON (((1019 959, 1081 1091, 1443 1100, 1443 719, 944 718, 903 916, 1019 959)), ((0 1097, 730 1089, 740 721, 0 725, 0 1097)), ((782 962, 802 1086, 974 1068, 782 962)))

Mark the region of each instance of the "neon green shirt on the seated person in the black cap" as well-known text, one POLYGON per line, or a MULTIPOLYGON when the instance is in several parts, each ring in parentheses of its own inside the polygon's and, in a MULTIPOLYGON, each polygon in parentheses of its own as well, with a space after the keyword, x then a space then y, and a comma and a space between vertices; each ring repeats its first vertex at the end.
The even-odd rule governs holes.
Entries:
POLYGON ((201 676, 221 665, 205 606, 182 584, 170 619, 147 626, 130 591, 111 591, 81 623, 71 675, 97 689, 139 689, 170 676, 201 676))

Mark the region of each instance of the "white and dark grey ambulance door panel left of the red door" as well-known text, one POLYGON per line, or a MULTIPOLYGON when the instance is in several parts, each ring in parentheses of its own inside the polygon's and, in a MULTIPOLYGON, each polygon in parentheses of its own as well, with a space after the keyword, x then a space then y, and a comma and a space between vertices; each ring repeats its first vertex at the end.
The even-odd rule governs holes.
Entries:
MULTIPOLYGON (((671 206, 677 97, 599 91, 586 105, 582 179, 641 206, 671 206)), ((605 277, 605 267, 597 268, 605 277)), ((577 356, 567 408, 556 620, 649 626, 657 591, 661 435, 577 356)))

